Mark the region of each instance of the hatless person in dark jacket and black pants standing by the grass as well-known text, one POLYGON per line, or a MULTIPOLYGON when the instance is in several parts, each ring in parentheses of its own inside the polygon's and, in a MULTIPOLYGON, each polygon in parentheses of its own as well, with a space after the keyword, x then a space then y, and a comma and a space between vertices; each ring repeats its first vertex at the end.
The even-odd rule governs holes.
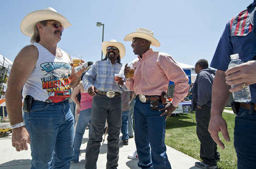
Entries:
POLYGON ((197 74, 192 91, 192 111, 196 111, 196 134, 200 141, 200 158, 202 162, 196 162, 199 168, 217 168, 217 160, 220 153, 217 152, 217 144, 210 137, 208 126, 210 121, 210 105, 212 102, 212 83, 215 69, 208 67, 208 61, 201 59, 196 62, 197 74))

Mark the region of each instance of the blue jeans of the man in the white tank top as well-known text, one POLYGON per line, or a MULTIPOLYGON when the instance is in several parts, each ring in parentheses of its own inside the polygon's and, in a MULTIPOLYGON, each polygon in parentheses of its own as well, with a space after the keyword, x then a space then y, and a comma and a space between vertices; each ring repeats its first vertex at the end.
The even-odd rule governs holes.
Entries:
POLYGON ((30 134, 31 168, 69 168, 73 155, 74 117, 69 101, 34 100, 23 120, 30 134))

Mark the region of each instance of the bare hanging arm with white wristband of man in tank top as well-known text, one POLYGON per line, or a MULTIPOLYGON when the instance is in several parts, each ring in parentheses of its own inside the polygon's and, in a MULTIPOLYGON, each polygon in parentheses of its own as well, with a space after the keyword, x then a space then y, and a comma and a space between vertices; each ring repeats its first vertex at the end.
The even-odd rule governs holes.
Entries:
MULTIPOLYGON (((14 60, 6 90, 6 107, 11 125, 23 122, 21 91, 37 60, 38 49, 34 45, 24 47, 14 60)), ((27 150, 27 142, 30 141, 26 128, 22 126, 12 131, 12 142, 16 150, 27 150)))

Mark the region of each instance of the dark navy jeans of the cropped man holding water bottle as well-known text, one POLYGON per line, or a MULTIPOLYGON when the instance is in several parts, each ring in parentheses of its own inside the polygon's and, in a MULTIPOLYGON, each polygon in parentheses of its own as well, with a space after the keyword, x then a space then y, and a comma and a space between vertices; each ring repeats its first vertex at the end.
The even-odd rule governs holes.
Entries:
POLYGON ((237 168, 256 166, 256 112, 240 108, 234 126, 234 147, 237 152, 237 168))

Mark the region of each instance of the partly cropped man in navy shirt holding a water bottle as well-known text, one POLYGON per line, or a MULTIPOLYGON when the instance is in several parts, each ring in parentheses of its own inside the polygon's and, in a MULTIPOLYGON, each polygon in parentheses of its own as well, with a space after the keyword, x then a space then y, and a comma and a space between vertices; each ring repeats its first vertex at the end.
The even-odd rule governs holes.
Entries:
POLYGON ((212 89, 209 132, 222 149, 225 146, 218 132, 223 134, 226 141, 230 141, 227 124, 222 117, 230 92, 250 85, 251 101, 249 103, 233 102, 233 105, 236 105, 233 106, 234 112, 237 113, 234 125, 234 147, 237 153, 238 169, 256 166, 255 6, 256 1, 253 1, 247 9, 226 24, 210 64, 217 69, 217 73, 212 89), (237 53, 246 63, 229 70, 230 55, 237 53), (233 84, 238 85, 230 88, 233 84))

